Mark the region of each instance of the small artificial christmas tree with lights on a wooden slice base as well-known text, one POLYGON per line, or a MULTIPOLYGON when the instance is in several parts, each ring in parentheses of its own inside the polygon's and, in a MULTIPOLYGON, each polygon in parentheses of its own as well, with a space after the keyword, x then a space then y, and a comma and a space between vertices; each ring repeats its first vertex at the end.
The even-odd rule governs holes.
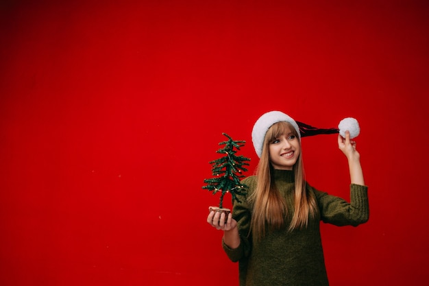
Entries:
POLYGON ((245 141, 234 141, 232 138, 225 133, 222 133, 228 138, 228 141, 222 141, 219 145, 224 145, 223 148, 217 150, 219 154, 225 154, 225 156, 212 160, 209 163, 212 164, 212 175, 215 178, 205 179, 204 182, 207 184, 203 189, 212 191, 213 195, 217 192, 221 192, 221 198, 219 202, 219 208, 216 206, 210 206, 210 211, 223 211, 225 218, 230 213, 229 208, 223 208, 223 196, 225 193, 232 195, 232 202, 241 202, 238 200, 237 195, 242 195, 247 187, 245 184, 241 184, 241 178, 244 177, 242 171, 247 171, 245 168, 249 158, 242 155, 237 156, 236 152, 240 150, 240 147, 245 145, 245 141))

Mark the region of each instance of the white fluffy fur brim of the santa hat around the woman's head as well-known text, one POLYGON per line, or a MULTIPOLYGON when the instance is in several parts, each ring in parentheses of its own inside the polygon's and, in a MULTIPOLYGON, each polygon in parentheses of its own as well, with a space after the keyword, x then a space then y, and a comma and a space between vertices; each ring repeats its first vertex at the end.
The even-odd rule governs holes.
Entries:
POLYGON ((267 112, 259 117, 252 130, 252 141, 254 143, 256 154, 259 158, 262 155, 262 146, 264 144, 265 134, 267 134, 267 131, 271 126, 273 126, 273 124, 282 121, 291 123, 293 128, 295 128, 297 131, 299 139, 301 139, 301 134, 299 134, 299 126, 292 117, 280 111, 267 112))

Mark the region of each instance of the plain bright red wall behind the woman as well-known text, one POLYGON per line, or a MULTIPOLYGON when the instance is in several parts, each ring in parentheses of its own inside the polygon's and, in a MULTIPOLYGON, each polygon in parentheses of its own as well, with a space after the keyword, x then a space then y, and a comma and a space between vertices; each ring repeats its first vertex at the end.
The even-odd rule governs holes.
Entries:
MULTIPOLYGON (((331 285, 427 283, 428 1, 62 2, 1 2, 0 285, 238 285, 201 186, 222 132, 253 173, 269 110, 360 122, 371 217, 322 225, 331 285)), ((303 148, 348 199, 336 136, 303 148)))

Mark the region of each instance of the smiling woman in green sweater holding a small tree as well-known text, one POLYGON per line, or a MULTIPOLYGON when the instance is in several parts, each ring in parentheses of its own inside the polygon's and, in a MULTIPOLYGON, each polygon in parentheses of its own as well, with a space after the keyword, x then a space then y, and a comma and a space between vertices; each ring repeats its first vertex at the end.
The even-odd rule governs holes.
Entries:
POLYGON ((356 142, 338 136, 350 169, 350 203, 304 180, 299 126, 271 111, 256 121, 252 141, 260 157, 256 176, 232 214, 211 212, 207 222, 223 230, 223 249, 239 263, 240 285, 328 285, 319 222, 357 226, 369 206, 356 142))

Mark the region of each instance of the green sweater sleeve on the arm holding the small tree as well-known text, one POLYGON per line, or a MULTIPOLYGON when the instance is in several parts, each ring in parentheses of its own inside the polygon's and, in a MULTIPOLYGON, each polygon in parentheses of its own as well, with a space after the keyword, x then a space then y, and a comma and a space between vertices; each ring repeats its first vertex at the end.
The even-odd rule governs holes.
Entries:
MULTIPOLYGON (((243 184, 247 185, 248 192, 249 187, 251 189, 255 182, 252 177, 249 177, 243 180, 243 184)), ((248 257, 251 249, 251 235, 249 235, 251 210, 249 203, 247 202, 247 194, 239 196, 238 200, 240 200, 240 202, 234 202, 232 217, 237 222, 238 234, 240 235, 240 245, 238 248, 230 248, 222 240, 223 250, 230 260, 234 262, 248 257)))

